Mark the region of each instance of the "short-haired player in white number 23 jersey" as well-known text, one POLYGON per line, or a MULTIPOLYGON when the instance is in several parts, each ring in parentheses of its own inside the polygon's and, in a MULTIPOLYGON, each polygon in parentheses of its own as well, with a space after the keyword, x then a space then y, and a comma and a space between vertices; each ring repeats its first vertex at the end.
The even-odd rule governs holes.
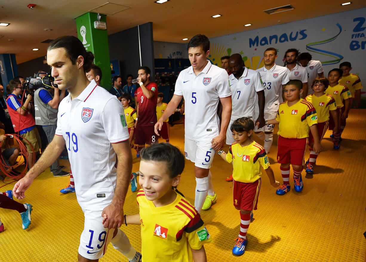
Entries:
MULTIPOLYGON (((286 67, 279 66, 275 63, 277 59, 277 50, 269 47, 264 51, 264 67, 257 69, 261 74, 264 94, 264 119, 273 119, 276 117, 280 102, 283 101, 283 86, 290 81, 286 67)), ((255 115, 259 115, 259 107, 255 106, 255 115)), ((273 142, 273 127, 275 125, 266 124, 263 128, 255 128, 254 132, 257 136, 264 140, 264 150, 269 153, 269 149, 273 142), (263 133, 264 132, 264 133, 263 133)))

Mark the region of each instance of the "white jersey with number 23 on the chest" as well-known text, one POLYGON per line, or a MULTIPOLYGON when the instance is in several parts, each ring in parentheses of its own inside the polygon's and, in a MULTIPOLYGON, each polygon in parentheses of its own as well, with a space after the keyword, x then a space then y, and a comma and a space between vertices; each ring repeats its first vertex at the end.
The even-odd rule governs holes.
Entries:
MULTIPOLYGON (((264 112, 277 112, 282 101, 282 85, 285 85, 290 79, 288 78, 287 68, 275 64, 271 69, 265 67, 257 69, 261 74, 266 103, 264 112)), ((258 101, 258 96, 256 96, 258 101)), ((258 102, 255 103, 255 115, 259 115, 258 102)))

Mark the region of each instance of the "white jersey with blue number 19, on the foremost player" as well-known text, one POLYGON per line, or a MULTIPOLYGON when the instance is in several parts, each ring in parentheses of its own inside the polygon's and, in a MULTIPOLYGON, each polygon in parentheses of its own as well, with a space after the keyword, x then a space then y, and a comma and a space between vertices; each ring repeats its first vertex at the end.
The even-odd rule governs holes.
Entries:
POLYGON ((71 100, 69 94, 61 101, 56 135, 66 141, 79 205, 104 209, 116 186, 111 143, 128 140, 121 102, 92 80, 78 97, 71 100))

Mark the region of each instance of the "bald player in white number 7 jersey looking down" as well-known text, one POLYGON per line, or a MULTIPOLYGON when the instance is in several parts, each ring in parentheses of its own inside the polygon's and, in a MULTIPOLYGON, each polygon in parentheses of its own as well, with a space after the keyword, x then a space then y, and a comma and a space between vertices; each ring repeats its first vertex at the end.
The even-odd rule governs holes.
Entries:
MULTIPOLYGON (((240 54, 235 53, 229 58, 229 67, 232 74, 229 75, 229 83, 232 92, 231 102, 232 111, 229 126, 238 118, 248 117, 254 121, 255 110, 255 94, 258 96, 259 115, 255 123, 259 122, 262 128, 265 125, 264 119, 264 86, 262 84, 261 75, 255 71, 245 67, 243 58, 240 54)), ((235 140, 230 129, 226 132, 226 144, 231 145, 235 140)), ((226 181, 232 181, 232 174, 226 178, 226 181)))

